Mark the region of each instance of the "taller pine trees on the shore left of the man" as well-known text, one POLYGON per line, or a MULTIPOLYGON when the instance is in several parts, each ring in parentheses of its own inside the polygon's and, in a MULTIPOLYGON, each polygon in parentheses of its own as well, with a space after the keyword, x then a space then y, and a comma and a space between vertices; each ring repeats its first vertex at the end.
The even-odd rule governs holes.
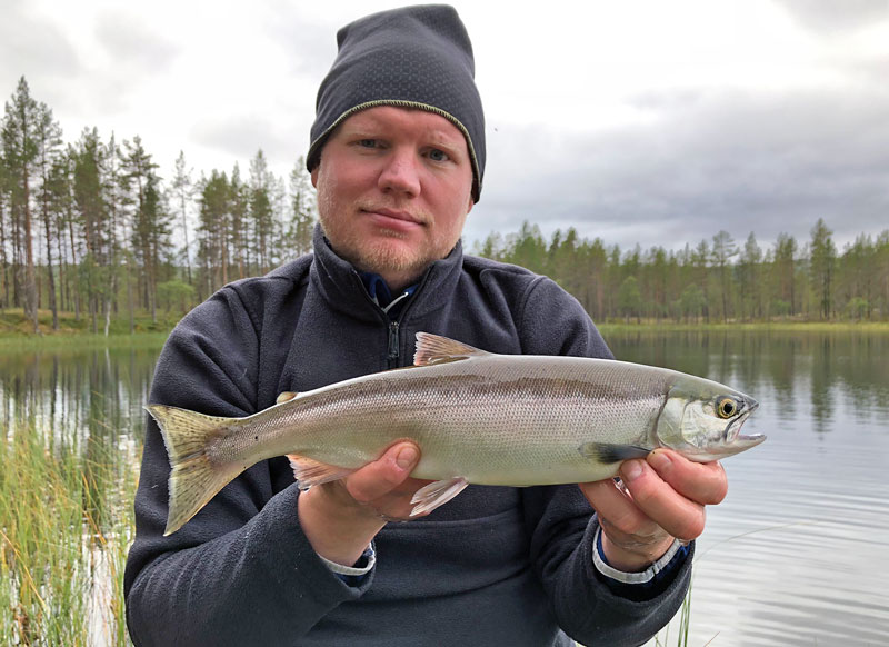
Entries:
POLYGON ((180 152, 164 179, 139 136, 86 128, 66 143, 22 77, 0 132, 0 310, 89 317, 158 308, 184 312, 226 282, 269 271, 309 250, 316 220, 302 159, 286 183, 262 150, 242 177, 196 179, 180 152))

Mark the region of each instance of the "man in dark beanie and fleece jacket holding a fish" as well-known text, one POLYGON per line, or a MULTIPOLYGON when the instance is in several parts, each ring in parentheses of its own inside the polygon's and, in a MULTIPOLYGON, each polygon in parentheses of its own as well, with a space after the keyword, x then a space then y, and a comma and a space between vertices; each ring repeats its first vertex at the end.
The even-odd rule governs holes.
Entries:
MULTIPOLYGON (((495 352, 610 357, 555 282, 462 255, 485 133, 456 12, 388 11, 338 40, 308 156, 314 253, 186 317, 151 401, 252 414, 283 391, 406 366, 420 330, 495 352)), ((470 486, 399 522, 424 485, 410 478, 421 451, 396 444, 304 492, 272 459, 163 537, 169 464, 149 421, 126 574, 133 643, 638 645, 681 603, 682 540, 727 487, 718 465, 656 451, 622 466, 626 489, 470 486)))

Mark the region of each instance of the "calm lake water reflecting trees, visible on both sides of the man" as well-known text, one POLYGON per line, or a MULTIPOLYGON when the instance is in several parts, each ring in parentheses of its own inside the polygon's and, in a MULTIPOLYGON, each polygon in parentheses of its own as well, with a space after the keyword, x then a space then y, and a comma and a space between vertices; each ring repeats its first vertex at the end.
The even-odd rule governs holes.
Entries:
MULTIPOLYGON (((760 401, 729 496, 698 541, 690 645, 889 645, 889 336, 610 336, 620 359, 760 401)), ((157 350, 7 352, 0 426, 24 416, 107 447, 139 442, 157 350)), ((87 445, 88 447, 91 446, 87 445)), ((676 645, 671 628, 665 645, 676 645)), ((653 643, 652 643, 653 644, 653 643)))

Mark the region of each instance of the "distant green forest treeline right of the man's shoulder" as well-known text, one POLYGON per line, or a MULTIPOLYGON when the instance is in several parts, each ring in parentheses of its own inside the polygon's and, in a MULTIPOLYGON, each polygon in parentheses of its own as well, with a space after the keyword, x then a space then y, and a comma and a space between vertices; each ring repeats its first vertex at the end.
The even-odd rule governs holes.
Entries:
POLYGON ((720 230, 679 251, 621 251, 575 229, 547 241, 525 222, 475 251, 548 275, 597 321, 889 320, 889 229, 842 252, 820 218, 810 240, 781 233, 770 249, 752 231, 738 241, 720 230))

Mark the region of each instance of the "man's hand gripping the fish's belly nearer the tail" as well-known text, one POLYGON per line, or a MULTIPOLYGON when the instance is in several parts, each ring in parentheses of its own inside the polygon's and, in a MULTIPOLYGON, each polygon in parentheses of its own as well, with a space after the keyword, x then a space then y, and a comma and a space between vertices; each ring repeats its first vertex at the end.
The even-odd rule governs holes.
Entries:
POLYGON ((390 520, 407 520, 413 492, 430 481, 409 478, 420 460, 412 442, 399 442, 378 460, 299 497, 299 522, 321 557, 351 566, 390 520))

